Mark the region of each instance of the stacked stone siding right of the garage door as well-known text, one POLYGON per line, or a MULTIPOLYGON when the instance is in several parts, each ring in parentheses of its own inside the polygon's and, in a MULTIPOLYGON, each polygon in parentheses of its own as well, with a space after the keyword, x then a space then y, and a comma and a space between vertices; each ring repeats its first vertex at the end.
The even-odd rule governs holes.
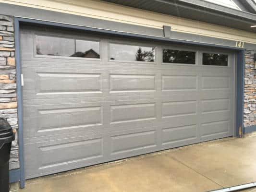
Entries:
POLYGON ((244 126, 256 125, 256 70, 254 69, 254 53, 246 50, 244 76, 244 126))

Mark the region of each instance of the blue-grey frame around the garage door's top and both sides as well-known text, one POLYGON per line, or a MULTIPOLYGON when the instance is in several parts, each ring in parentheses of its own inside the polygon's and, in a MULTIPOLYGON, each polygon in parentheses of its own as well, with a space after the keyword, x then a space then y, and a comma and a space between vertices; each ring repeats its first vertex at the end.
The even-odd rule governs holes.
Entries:
MULTIPOLYGON (((69 29, 79 29, 85 30, 87 32, 93 33, 102 33, 108 35, 117 35, 117 36, 124 36, 124 37, 135 37, 135 38, 143 38, 148 40, 156 40, 162 42, 176 42, 182 44, 189 44, 189 45, 197 45, 197 46, 207 46, 207 47, 214 47, 214 48, 225 48, 230 50, 237 51, 237 58, 236 58, 236 73, 235 73, 235 111, 236 115, 234 118, 235 120, 235 132, 234 135, 241 137, 244 132, 243 126, 243 111, 244 111, 244 53, 245 48, 238 48, 238 47, 230 47, 230 46, 223 46, 217 44, 209 44, 209 43, 202 43, 202 42, 195 42, 195 41, 187 41, 181 39, 171 39, 171 38, 164 38, 158 36, 147 36, 147 35, 140 35, 140 34, 133 34, 127 32, 119 32, 119 31, 111 31, 106 29, 98 29, 92 27, 85 27, 85 26, 78 26, 72 24, 61 24, 49 21, 40 21, 35 19, 26 19, 15 17, 14 18, 14 27, 15 27, 15 61, 16 61, 16 84, 17 84, 17 102, 18 102, 18 122, 19 122, 19 159, 20 159, 20 171, 19 171, 19 178, 20 178, 20 187, 24 188, 24 146, 23 146, 23 98, 22 98, 22 81, 21 81, 21 60, 20 60, 20 25, 23 23, 29 24, 44 24, 50 26, 58 26, 64 27, 69 29)), ((18 172, 16 173, 18 174, 18 172)))

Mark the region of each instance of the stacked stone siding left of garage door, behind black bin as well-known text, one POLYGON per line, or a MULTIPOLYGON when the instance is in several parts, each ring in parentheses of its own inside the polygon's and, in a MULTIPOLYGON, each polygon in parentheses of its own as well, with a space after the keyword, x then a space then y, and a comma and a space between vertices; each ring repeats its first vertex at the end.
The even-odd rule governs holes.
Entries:
POLYGON ((0 117, 8 120, 15 133, 10 169, 19 168, 14 28, 13 17, 6 15, 0 15, 0 117))

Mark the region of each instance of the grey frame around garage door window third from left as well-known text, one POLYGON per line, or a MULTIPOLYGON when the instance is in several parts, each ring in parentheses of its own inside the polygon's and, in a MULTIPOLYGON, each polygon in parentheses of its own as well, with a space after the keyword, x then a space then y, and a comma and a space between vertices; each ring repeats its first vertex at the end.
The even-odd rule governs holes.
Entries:
POLYGON ((178 66, 199 66, 199 62, 198 59, 199 57, 199 50, 197 47, 195 47, 195 49, 192 48, 183 48, 185 46, 162 46, 161 47, 161 65, 178 65, 178 66), (169 50, 180 50, 180 51, 191 51, 191 52, 195 52, 195 64, 193 63, 167 63, 167 62, 163 62, 163 49, 169 49, 169 50))

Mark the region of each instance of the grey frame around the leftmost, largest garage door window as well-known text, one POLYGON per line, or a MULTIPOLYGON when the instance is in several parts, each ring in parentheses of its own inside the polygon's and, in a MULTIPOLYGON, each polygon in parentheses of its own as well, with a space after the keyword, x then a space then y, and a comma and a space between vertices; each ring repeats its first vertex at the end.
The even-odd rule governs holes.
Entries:
POLYGON ((35 58, 49 58, 49 59, 70 59, 70 60, 95 60, 102 61, 101 58, 101 39, 95 37, 81 37, 81 36, 69 36, 69 35, 57 35, 57 34, 49 34, 49 33, 33 33, 33 55, 35 58), (37 46, 36 46, 36 36, 49 36, 49 37, 58 37, 58 38, 66 38, 73 40, 84 40, 84 41, 95 41, 99 43, 99 58, 82 58, 82 57, 68 57, 68 56, 56 56, 56 55, 38 55, 37 54, 37 46))

